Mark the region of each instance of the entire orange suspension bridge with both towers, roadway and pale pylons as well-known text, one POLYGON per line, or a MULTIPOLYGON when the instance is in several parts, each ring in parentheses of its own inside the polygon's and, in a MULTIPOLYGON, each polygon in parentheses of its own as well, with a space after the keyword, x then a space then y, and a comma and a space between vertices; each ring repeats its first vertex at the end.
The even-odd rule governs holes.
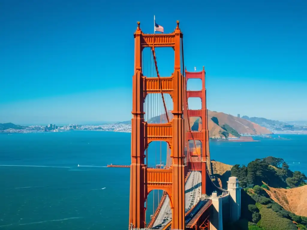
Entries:
MULTIPOLYGON (((134 33, 134 75, 131 119, 131 165, 129 229, 222 229, 220 206, 229 208, 229 194, 239 194, 237 178, 230 178, 231 191, 217 187, 212 174, 208 110, 206 105, 205 69, 200 72, 184 70, 183 33, 179 21, 173 33, 145 34, 138 22, 134 33), (160 76, 155 48, 174 50, 174 71, 160 76), (145 48, 150 48, 150 74, 144 75, 145 48), (202 89, 187 90, 188 79, 201 79, 202 89), (200 98, 201 109, 188 107, 188 98, 200 98), (199 117, 201 127, 191 130, 191 117, 199 117), (160 142, 155 157, 159 164, 150 167, 149 145, 160 142), (162 142, 166 143, 166 164, 162 163, 162 142), (157 209, 146 223, 148 195, 158 195, 157 209), (214 191, 216 190, 216 191, 214 191), (235 191, 235 193, 231 193, 235 191), (218 197, 218 194, 221 194, 218 197), (223 199, 221 197, 227 197, 223 199), (226 207, 226 206, 225 206, 226 207), (218 209, 215 220, 212 210, 218 209), (220 211, 219 211, 220 210, 220 211), (214 223, 216 222, 216 223, 214 223), (220 227, 218 227, 220 226, 220 227)), ((200 124, 200 123, 199 123, 200 124)), ((156 145, 157 147, 157 145, 156 145)), ((164 147, 165 148, 165 147, 164 147)), ((229 186, 228 186, 229 187, 229 186)), ((228 189, 229 190, 229 189, 228 189)), ((153 196, 155 198, 155 196, 153 196)), ((233 195, 231 195, 233 197, 233 195)), ((238 199, 234 198, 238 203, 238 199)), ((154 200, 153 200, 154 202, 154 200)), ((239 216, 238 205, 234 206, 239 216)), ((231 206, 232 207, 232 206, 231 206)), ((154 209, 154 203, 153 203, 154 209)), ((229 216, 229 215, 228 215, 229 216)), ((235 219, 237 217, 233 217, 235 219)))

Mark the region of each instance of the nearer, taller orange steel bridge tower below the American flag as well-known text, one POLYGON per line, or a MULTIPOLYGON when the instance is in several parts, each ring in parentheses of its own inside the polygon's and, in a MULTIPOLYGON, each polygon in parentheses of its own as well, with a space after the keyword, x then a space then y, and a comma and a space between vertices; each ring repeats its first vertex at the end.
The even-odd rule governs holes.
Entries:
POLYGON ((185 229, 185 172, 184 172, 184 77, 181 74, 179 21, 173 33, 134 33, 134 76, 132 89, 131 166, 129 224, 145 228, 144 203, 150 190, 163 189, 170 198, 172 229, 185 229), (150 47, 172 47, 175 52, 174 72, 170 77, 147 78, 142 72, 142 50, 150 47), (173 118, 167 124, 147 124, 144 120, 144 101, 149 93, 169 93, 173 98, 173 118), (171 149, 169 169, 150 169, 145 164, 145 150, 151 141, 166 141, 171 149))

